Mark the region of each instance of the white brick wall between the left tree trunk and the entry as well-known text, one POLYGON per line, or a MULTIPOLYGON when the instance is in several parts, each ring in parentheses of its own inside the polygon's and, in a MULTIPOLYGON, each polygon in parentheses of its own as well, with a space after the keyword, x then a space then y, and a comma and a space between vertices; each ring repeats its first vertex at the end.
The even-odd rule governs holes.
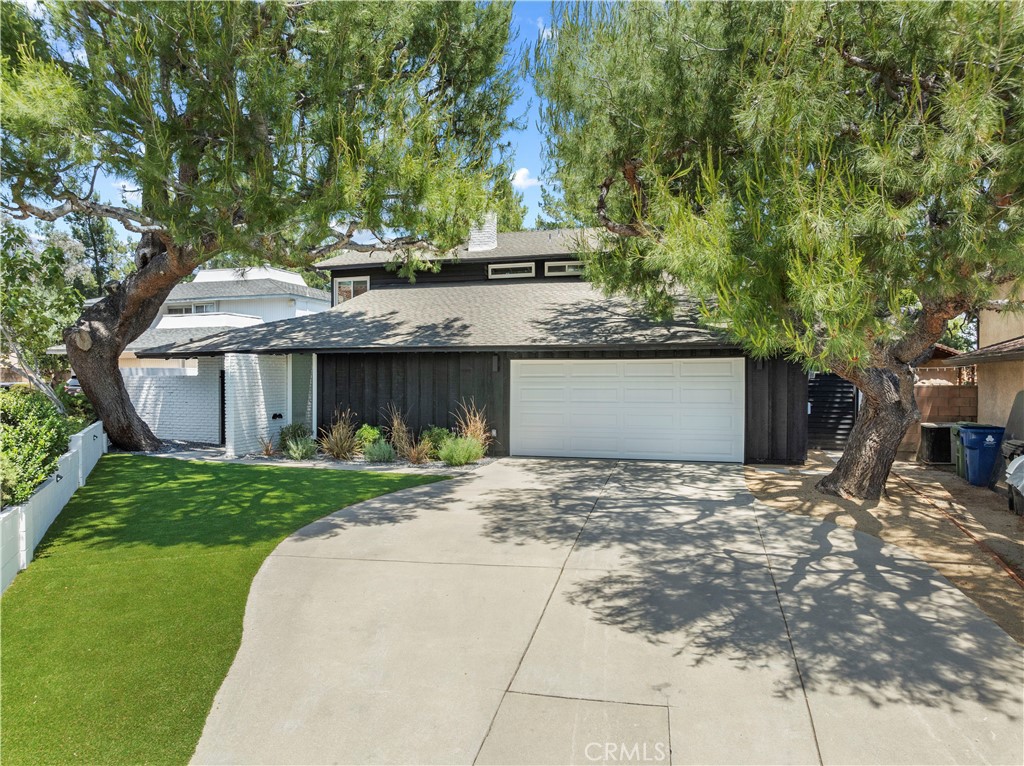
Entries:
POLYGON ((201 358, 199 375, 130 376, 125 387, 139 416, 162 439, 220 441, 219 357, 201 358))

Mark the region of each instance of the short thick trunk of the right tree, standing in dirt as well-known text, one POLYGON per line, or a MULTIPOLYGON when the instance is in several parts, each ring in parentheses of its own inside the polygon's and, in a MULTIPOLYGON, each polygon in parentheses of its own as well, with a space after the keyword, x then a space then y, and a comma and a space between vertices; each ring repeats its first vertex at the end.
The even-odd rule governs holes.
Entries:
POLYGON ((827 495, 877 501, 885 492, 907 429, 921 417, 913 397, 913 374, 869 369, 854 382, 864 403, 843 457, 817 488, 827 495))

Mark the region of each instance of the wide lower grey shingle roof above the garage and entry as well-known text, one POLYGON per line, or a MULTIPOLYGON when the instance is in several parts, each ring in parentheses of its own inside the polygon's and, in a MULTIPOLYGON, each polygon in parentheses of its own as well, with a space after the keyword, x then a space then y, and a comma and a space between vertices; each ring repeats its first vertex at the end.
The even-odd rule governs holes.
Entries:
POLYGON ((586 282, 462 283, 371 290, 323 311, 237 328, 145 356, 231 352, 734 347, 680 302, 665 324, 586 282))

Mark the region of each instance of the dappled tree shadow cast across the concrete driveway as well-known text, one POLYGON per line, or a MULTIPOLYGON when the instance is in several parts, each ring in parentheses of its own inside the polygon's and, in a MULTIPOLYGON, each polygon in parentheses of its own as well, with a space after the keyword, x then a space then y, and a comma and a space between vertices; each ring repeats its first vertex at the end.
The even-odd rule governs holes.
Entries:
POLYGON ((758 666, 792 640, 797 663, 777 694, 803 686, 949 712, 978 704, 1021 720, 1020 647, 932 567, 760 506, 741 473, 626 465, 585 525, 543 490, 496 492, 477 506, 484 534, 573 545, 561 597, 688 665, 758 666))

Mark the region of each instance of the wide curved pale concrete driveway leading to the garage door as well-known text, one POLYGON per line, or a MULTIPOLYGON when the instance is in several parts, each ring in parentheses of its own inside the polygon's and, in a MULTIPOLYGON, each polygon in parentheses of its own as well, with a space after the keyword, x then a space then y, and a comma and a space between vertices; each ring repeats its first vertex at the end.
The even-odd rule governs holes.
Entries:
POLYGON ((739 467, 502 460, 285 541, 197 763, 1024 761, 1021 647, 739 467))

